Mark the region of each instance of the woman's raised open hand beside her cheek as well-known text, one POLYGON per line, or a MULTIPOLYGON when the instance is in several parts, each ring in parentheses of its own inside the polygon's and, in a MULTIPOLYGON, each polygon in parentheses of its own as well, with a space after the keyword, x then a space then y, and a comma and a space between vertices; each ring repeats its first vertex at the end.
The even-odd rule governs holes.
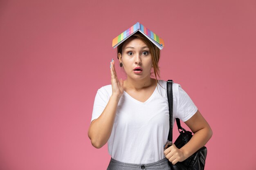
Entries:
POLYGON ((119 98, 124 93, 124 80, 118 80, 117 72, 115 70, 115 61, 112 59, 110 62, 110 73, 111 73, 111 84, 112 84, 112 95, 115 95, 119 98))

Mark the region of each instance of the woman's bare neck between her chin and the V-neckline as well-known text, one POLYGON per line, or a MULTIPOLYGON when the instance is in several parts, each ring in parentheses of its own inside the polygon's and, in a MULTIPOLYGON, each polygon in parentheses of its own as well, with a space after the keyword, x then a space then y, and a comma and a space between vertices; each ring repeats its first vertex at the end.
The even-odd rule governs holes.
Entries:
POLYGON ((150 77, 146 77, 144 79, 131 79, 130 77, 127 77, 127 79, 124 81, 124 86, 127 89, 140 91, 143 88, 152 86, 154 82, 155 82, 155 79, 152 79, 150 77))

